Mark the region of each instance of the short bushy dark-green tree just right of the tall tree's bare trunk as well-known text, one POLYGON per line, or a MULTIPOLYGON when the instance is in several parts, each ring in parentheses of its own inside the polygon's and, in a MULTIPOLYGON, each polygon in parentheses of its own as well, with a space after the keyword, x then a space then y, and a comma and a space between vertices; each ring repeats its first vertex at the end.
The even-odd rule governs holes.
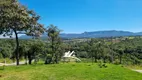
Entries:
POLYGON ((28 45, 24 49, 24 50, 26 50, 25 59, 28 59, 29 64, 32 64, 33 59, 36 63, 38 61, 40 55, 43 54, 44 48, 45 48, 45 43, 41 40, 35 39, 35 40, 28 41, 28 45))

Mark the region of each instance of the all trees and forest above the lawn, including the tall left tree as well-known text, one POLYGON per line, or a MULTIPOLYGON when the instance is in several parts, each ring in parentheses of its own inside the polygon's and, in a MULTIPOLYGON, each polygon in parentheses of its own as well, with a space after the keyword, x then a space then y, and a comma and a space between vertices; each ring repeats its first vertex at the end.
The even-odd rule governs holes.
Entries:
POLYGON ((0 34, 11 36, 15 33, 16 36, 15 39, 0 40, 0 57, 16 59, 17 65, 20 58, 25 58, 29 64, 37 58, 45 60, 45 64, 59 63, 63 53, 69 50, 74 50, 77 57, 91 58, 92 63, 99 60, 115 64, 142 63, 141 37, 73 39, 62 43, 60 30, 56 26, 44 29, 38 23, 40 17, 17 0, 2 0, 0 3, 0 34), (19 41, 18 34, 21 32, 33 36, 33 40, 19 41), (38 39, 44 32, 47 33, 46 41, 38 39))

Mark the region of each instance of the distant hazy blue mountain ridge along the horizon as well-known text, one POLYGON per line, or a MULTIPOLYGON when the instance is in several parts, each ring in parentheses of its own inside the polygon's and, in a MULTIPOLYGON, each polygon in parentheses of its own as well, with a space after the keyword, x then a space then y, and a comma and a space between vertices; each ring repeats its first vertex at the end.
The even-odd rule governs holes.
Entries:
MULTIPOLYGON (((60 37, 62 38, 99 38, 99 37, 118 37, 118 36, 138 36, 142 35, 142 32, 133 33, 129 31, 116 31, 116 30, 108 30, 108 31, 93 31, 93 32, 84 32, 80 34, 67 34, 61 33, 60 37)), ((26 35, 20 36, 21 39, 29 39, 26 35)), ((46 34, 43 34, 42 39, 47 38, 46 34)))

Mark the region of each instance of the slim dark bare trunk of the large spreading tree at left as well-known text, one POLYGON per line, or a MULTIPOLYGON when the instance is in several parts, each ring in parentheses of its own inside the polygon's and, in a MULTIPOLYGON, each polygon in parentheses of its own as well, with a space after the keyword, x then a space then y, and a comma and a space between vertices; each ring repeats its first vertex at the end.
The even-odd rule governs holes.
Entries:
POLYGON ((19 65, 19 39, 16 29, 13 30, 16 36, 16 64, 19 65))

